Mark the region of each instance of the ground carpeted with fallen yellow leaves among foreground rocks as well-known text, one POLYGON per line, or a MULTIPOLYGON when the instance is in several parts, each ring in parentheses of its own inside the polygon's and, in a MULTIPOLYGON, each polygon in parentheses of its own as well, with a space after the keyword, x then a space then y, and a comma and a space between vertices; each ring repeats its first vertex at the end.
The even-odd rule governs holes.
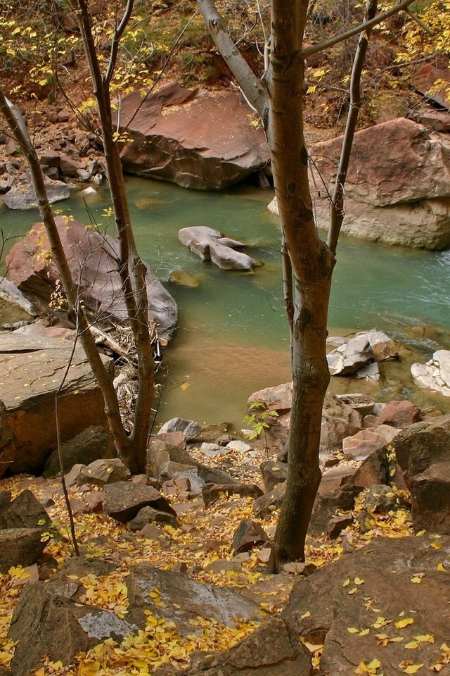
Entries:
MULTIPOLYGON (((266 460, 266 453, 253 451, 248 453, 233 451, 224 458, 210 458, 209 463, 217 468, 230 470, 236 468, 240 479, 245 475, 249 483, 260 482, 258 464, 266 460), (259 457, 260 456, 260 457, 259 457)), ((205 458, 203 456, 203 461, 205 458)), ((274 459, 274 458, 272 458, 274 459)), ((14 477, 0 482, 1 488, 8 489, 16 496, 27 488, 44 501, 53 502, 47 507, 53 524, 65 539, 50 537, 46 546, 47 555, 58 562, 58 566, 72 556, 72 545, 68 531, 68 518, 58 480, 45 481, 35 477, 14 477)), ((76 494, 72 496, 75 499, 76 494)), ((404 501, 404 496, 401 496, 404 501)), ((102 513, 76 513, 75 525, 77 539, 83 556, 101 558, 113 563, 115 570, 109 575, 96 577, 89 575, 81 580, 86 592, 81 599, 84 603, 113 611, 119 617, 127 615, 127 587, 124 581, 129 575, 130 567, 141 561, 152 563, 165 570, 186 571, 198 582, 208 582, 230 587, 236 592, 257 601, 268 613, 278 614, 287 601, 293 583, 297 579, 295 564, 288 566, 281 575, 266 575, 264 565, 268 549, 253 549, 250 552, 235 556, 231 547, 233 534, 240 520, 255 520, 252 511, 252 499, 223 494, 216 503, 205 508, 201 499, 188 499, 184 495, 171 495, 169 500, 174 506, 179 520, 179 529, 168 525, 161 526, 158 539, 147 539, 140 534, 131 534, 126 525, 120 525, 102 513), (214 572, 210 565, 214 561, 227 560, 240 563, 238 570, 221 570, 214 572)), ((309 539, 307 544, 307 563, 316 567, 330 565, 338 561, 347 551, 359 549, 376 537, 404 537, 412 533, 411 514, 406 507, 397 509, 387 515, 371 513, 370 523, 365 524, 364 534, 359 532, 358 514, 361 512, 363 495, 356 499, 354 522, 342 532, 342 535, 328 541, 325 538, 309 539)), ((278 512, 271 518, 259 520, 260 524, 271 536, 274 533, 278 512)), ((438 544, 437 544, 438 546, 438 544)), ((8 667, 13 656, 14 644, 8 640, 8 626, 13 610, 18 602, 21 589, 32 577, 32 570, 27 568, 11 568, 6 575, 0 576, 0 665, 8 667)), ((51 575, 51 572, 49 572, 51 575)), ((349 580, 349 584, 350 584, 349 580)), ((359 580, 352 581, 352 589, 357 589, 359 580)), ((417 580, 420 584, 420 578, 417 580)), ((158 590, 155 590, 158 605, 158 590)), ((89 653, 80 655, 75 665, 64 667, 62 663, 46 661, 35 676, 77 675, 143 675, 151 674, 165 663, 170 663, 180 670, 189 662, 189 656, 198 650, 222 650, 236 644, 250 634, 257 622, 237 622, 236 627, 225 627, 214 620, 198 618, 193 625, 193 634, 180 637, 172 622, 157 618, 148 613, 146 630, 129 636, 122 644, 107 639, 94 647, 89 653), (199 631, 200 630, 200 631, 199 631), (194 633, 195 632, 195 633, 194 633)), ((380 627, 380 631, 383 627, 380 627)), ((319 668, 321 646, 309 645, 313 653, 314 663, 319 668)), ((368 673, 371 673, 369 670, 368 673)))

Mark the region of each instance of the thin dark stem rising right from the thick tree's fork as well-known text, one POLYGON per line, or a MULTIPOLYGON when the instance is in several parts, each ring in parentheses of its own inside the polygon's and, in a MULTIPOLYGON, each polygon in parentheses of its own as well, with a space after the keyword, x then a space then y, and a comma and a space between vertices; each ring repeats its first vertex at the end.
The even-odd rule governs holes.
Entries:
MULTIPOLYGON (((369 0, 367 5, 366 16, 370 20, 377 11, 377 0, 369 0)), ((367 21, 366 23, 370 23, 367 21)), ((349 168, 350 154, 352 153, 352 145, 354 133, 356 130, 356 122, 358 120, 359 108, 361 108, 361 73, 366 61, 366 54, 368 48, 368 39, 371 35, 371 28, 361 32, 359 36, 358 47, 354 56, 352 77, 350 78, 350 106, 349 114, 347 116, 347 124, 345 125, 344 137, 342 139, 342 149, 340 152, 338 175, 335 179, 335 187, 333 190, 333 198, 330 207, 330 226, 328 228, 327 244, 330 247, 333 255, 336 253, 338 246, 338 239, 342 221, 344 220, 344 188, 345 180, 347 178, 347 170, 349 168)))

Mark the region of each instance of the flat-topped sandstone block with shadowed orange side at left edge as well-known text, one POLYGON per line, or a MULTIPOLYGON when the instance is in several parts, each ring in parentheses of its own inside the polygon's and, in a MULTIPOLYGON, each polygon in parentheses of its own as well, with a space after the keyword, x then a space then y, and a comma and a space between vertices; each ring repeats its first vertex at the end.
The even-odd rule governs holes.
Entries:
MULTIPOLYGON (((113 361, 102 356, 108 370, 113 361)), ((39 472, 56 448, 55 392, 59 398, 63 442, 89 425, 104 422, 103 396, 81 347, 72 356, 70 343, 37 339, 20 333, 0 335, 1 415, 0 477, 39 472), (67 370, 68 363, 71 368, 67 370), (11 377, 11 374, 14 377, 11 377)))

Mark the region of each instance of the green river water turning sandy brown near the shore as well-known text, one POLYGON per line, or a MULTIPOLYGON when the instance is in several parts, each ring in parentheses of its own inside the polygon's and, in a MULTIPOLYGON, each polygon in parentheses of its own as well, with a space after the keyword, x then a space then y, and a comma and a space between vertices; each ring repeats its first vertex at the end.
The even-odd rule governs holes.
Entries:
MULTIPOLYGON (((200 423, 240 425, 252 392, 289 378, 280 231, 277 218, 266 210, 271 192, 252 187, 191 192, 137 178, 127 180, 127 187, 139 251, 179 303, 180 327, 165 353, 169 373, 158 418, 181 415, 200 423), (254 273, 224 272, 203 263, 178 240, 179 229, 189 225, 217 227, 243 239, 262 267, 254 273), (198 286, 169 282, 169 273, 177 269, 194 275, 198 286), (183 383, 189 387, 182 388, 183 383)), ((109 224, 112 231, 112 220, 102 215, 107 206, 105 188, 56 205, 85 223, 109 224)), ((37 211, 0 211, 5 236, 23 234, 34 220, 37 211)), ((376 327, 406 343, 403 363, 385 365, 382 392, 375 388, 381 398, 413 396, 423 405, 433 403, 426 394, 416 394, 409 363, 450 347, 449 282, 450 251, 340 242, 330 333, 376 327)), ((348 381, 333 379, 333 389, 348 389, 348 381)), ((373 391, 373 386, 358 382, 357 389, 373 391)))

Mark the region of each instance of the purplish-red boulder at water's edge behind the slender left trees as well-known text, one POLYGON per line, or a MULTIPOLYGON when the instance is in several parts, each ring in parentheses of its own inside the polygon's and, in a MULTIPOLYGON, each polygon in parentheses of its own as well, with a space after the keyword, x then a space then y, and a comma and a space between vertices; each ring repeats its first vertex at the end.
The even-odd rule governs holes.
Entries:
MULTIPOLYGON (((86 307, 94 311, 100 321, 127 321, 117 273, 117 239, 61 216, 56 218, 56 225, 86 307)), ((49 311, 50 296, 59 277, 55 263, 48 256, 49 250, 44 224, 35 223, 6 256, 11 281, 45 311, 49 311)), ((176 327, 176 303, 149 268, 146 281, 149 315, 156 322, 159 336, 168 339, 176 327)))

